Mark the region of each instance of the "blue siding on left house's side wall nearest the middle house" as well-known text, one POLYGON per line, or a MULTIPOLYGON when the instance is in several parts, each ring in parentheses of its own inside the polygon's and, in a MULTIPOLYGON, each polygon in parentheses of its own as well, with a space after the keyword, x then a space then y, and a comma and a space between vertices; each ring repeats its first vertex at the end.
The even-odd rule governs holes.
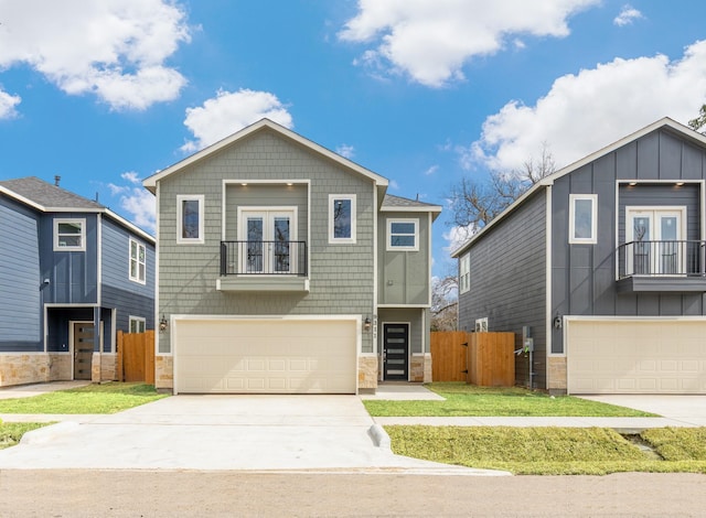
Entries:
POLYGON ((129 331, 129 317, 146 320, 154 328, 154 246, 104 217, 101 228, 100 305, 117 310, 116 328, 129 331), (145 283, 130 280, 130 238, 145 246, 145 283))

